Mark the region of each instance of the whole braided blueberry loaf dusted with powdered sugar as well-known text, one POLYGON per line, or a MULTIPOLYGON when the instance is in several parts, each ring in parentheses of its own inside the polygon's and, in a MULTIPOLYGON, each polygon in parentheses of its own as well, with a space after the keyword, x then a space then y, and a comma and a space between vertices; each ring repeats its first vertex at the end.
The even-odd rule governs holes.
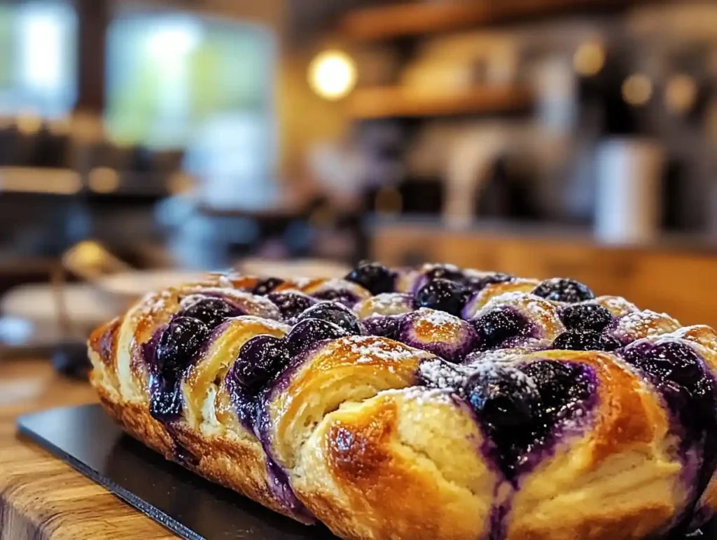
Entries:
POLYGON ((671 539, 717 506, 717 334, 574 280, 209 275, 89 354, 130 435, 343 539, 671 539))

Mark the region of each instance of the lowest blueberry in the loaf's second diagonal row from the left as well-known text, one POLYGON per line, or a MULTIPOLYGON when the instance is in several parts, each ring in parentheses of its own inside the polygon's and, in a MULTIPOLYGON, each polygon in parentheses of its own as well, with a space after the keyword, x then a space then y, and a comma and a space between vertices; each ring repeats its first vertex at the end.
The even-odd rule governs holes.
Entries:
POLYGON ((256 336, 239 350, 232 376, 239 387, 258 392, 264 384, 289 363, 285 342, 274 336, 256 336))

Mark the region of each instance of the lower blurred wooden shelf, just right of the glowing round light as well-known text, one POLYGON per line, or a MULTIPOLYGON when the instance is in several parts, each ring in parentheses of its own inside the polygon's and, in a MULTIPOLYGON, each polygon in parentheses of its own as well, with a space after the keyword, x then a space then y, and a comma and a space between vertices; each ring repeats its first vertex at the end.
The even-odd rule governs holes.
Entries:
POLYGON ((524 110, 532 103, 530 90, 515 86, 482 86, 445 95, 375 87, 356 90, 348 99, 348 113, 356 120, 451 116, 524 110))

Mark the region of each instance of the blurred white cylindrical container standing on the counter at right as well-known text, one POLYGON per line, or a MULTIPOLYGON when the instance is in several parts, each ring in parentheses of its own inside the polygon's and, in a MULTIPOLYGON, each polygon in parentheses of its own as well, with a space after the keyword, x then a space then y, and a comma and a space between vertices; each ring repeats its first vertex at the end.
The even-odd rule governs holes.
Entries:
POLYGON ((611 244, 644 244, 660 232, 665 151, 656 141, 615 138, 597 150, 595 236, 611 244))

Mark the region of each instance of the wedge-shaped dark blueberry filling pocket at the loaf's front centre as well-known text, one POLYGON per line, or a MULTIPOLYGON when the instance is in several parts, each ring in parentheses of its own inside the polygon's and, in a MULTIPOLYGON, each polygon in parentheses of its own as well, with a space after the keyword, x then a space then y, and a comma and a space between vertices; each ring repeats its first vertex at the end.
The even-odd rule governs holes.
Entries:
POLYGON ((485 436, 481 450, 513 488, 554 451, 566 430, 583 428, 589 417, 584 413, 597 402, 594 370, 574 362, 462 366, 438 359, 422 363, 417 379, 452 389, 470 405, 485 436))

